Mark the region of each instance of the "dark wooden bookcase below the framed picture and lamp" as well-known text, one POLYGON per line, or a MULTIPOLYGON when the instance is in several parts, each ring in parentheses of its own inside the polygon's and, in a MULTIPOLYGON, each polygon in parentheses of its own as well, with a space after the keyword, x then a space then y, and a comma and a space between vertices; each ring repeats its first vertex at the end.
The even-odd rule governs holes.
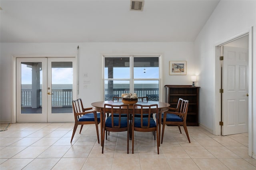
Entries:
POLYGON ((187 126, 198 126, 199 88, 191 85, 165 85, 166 103, 177 107, 178 99, 188 100, 187 126))

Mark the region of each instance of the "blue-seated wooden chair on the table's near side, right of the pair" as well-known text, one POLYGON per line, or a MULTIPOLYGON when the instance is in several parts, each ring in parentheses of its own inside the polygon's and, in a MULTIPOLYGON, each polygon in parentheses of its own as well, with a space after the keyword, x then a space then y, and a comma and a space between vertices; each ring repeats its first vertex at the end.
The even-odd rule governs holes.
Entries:
POLYGON ((132 153, 134 153, 134 131, 138 132, 154 132, 154 140, 157 141, 157 154, 159 154, 159 137, 158 137, 158 105, 133 105, 132 121, 132 153), (134 115, 140 113, 140 117, 134 115), (156 113, 156 121, 152 118, 152 114, 156 113), (145 117, 144 115, 147 115, 145 117))

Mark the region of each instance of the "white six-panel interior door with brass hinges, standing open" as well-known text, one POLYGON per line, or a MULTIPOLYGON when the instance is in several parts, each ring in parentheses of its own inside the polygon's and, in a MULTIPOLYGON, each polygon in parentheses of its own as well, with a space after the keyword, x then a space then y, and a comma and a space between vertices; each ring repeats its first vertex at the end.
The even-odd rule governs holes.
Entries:
POLYGON ((248 132, 248 49, 223 47, 223 135, 248 132))

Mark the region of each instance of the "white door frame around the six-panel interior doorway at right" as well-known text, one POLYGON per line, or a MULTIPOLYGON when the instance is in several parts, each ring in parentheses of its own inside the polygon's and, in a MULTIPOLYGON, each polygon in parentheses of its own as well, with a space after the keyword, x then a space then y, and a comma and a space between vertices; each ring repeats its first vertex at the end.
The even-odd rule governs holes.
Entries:
POLYGON ((215 115, 214 115, 214 134, 220 135, 221 134, 221 127, 219 122, 221 121, 221 101, 220 101, 220 92, 219 89, 221 88, 221 77, 220 77, 220 60, 219 57, 221 55, 221 46, 234 41, 242 36, 248 35, 249 36, 249 49, 248 49, 248 154, 252 156, 252 28, 248 31, 242 32, 228 40, 218 43, 215 46, 215 115))

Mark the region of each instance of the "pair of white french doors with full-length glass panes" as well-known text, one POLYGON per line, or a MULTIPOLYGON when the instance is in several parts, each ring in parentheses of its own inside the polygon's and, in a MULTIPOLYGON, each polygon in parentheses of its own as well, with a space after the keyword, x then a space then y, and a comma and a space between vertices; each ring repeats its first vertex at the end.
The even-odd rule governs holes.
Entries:
POLYGON ((16 59, 17 122, 72 122, 75 57, 16 59))

